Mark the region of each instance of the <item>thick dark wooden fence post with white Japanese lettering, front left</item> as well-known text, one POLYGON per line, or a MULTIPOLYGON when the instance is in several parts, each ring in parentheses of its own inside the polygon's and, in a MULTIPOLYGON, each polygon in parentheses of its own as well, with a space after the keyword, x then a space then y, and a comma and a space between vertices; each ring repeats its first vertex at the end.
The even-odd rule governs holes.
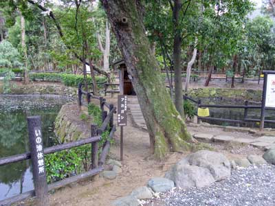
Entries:
POLYGON ((37 205, 47 206, 49 205, 49 198, 47 196, 47 175, 44 160, 41 117, 33 116, 27 119, 32 159, 32 174, 34 177, 34 190, 37 198, 37 205))

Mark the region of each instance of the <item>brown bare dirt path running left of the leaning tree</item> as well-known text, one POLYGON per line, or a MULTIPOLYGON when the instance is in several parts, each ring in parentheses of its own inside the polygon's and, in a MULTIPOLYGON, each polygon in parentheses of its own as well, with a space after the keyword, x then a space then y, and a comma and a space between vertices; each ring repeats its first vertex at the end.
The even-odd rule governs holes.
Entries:
MULTIPOLYGON (((129 118, 130 119, 130 118, 129 118)), ((119 137, 116 132, 115 144, 111 147, 113 158, 120 157, 119 137)), ((149 150, 148 133, 134 128, 131 120, 124 128, 124 161, 122 174, 113 181, 96 178, 62 188, 50 196, 51 205, 111 205, 111 201, 128 195, 135 187, 146 185, 152 176, 163 176, 170 165, 186 154, 171 153, 164 162, 153 159, 149 150)))

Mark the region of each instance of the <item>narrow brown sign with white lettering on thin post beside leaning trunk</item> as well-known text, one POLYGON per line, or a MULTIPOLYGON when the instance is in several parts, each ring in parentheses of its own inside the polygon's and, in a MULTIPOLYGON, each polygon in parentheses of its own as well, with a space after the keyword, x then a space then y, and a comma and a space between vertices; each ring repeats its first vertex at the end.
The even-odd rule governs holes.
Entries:
POLYGON ((127 126, 127 96, 118 95, 118 126, 120 126, 120 161, 123 160, 123 127, 127 126))

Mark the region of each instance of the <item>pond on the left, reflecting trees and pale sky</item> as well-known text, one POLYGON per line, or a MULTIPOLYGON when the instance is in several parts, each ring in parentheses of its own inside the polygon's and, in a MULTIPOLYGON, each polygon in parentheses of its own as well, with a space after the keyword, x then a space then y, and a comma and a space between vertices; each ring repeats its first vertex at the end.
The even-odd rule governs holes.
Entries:
MULTIPOLYGON (((54 121, 69 99, 56 95, 0 95, 0 158, 29 151, 27 117, 40 115, 44 147, 58 143, 54 121)), ((34 188, 31 161, 0 166, 0 201, 34 188)))

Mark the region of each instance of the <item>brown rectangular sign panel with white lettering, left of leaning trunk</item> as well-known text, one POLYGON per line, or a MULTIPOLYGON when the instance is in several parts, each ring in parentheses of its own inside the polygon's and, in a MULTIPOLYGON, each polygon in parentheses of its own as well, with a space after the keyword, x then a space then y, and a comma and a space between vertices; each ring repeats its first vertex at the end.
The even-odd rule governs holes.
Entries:
POLYGON ((127 96, 118 95, 118 126, 127 125, 127 96))

